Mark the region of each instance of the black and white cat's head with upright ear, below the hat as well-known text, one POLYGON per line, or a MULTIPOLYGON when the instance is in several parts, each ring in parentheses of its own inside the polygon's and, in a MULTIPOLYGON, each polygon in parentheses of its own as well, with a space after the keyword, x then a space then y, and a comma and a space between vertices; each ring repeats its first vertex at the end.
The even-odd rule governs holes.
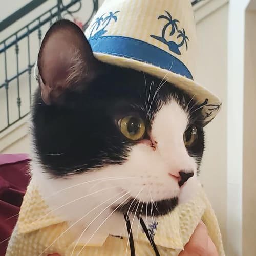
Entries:
POLYGON ((61 191, 63 212, 101 205, 163 215, 193 193, 204 151, 193 97, 164 78, 98 61, 66 20, 47 32, 37 65, 32 172, 42 193, 61 191))

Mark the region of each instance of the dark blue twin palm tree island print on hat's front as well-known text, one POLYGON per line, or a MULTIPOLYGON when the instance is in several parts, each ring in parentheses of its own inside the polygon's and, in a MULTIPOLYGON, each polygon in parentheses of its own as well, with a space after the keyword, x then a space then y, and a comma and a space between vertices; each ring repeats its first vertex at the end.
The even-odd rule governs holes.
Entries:
POLYGON ((183 28, 182 30, 178 30, 178 25, 177 23, 179 23, 178 19, 173 19, 172 15, 170 15, 169 12, 165 11, 167 16, 165 15, 160 15, 158 17, 158 19, 166 19, 167 23, 164 25, 163 30, 162 30, 162 36, 156 36, 156 35, 150 35, 151 37, 153 37, 154 39, 163 42, 165 45, 167 45, 169 47, 169 50, 181 55, 181 52, 179 50, 180 47, 182 47, 184 44, 186 45, 186 49, 187 49, 187 40, 189 41, 188 37, 186 36, 185 33, 185 29, 183 28), (165 33, 168 27, 172 26, 172 30, 170 31, 170 36, 173 36, 175 31, 177 31, 179 34, 177 36, 177 38, 182 37, 182 41, 180 42, 180 44, 177 44, 174 41, 167 41, 165 39, 165 33))

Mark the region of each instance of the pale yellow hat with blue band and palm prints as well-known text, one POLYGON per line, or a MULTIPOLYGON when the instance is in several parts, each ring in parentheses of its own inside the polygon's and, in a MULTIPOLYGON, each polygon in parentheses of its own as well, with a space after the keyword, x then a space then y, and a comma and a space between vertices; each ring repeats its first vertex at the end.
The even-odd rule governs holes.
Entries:
POLYGON ((196 29, 190 0, 105 0, 85 32, 94 56, 173 83, 202 106, 205 125, 220 99, 193 80, 196 29))

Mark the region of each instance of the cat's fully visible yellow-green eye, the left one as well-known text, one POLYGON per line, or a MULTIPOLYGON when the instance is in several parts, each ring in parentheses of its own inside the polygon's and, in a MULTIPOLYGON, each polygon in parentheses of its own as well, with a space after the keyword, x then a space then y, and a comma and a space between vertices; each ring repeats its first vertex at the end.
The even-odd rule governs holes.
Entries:
POLYGON ((130 140, 142 139, 145 134, 145 123, 140 117, 126 116, 119 121, 121 133, 130 140))

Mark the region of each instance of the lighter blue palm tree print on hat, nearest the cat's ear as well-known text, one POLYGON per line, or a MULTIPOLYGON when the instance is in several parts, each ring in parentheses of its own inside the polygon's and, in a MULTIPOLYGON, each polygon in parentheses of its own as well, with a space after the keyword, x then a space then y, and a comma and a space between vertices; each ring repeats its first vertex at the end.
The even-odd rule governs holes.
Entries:
POLYGON ((109 15, 106 16, 106 17, 103 17, 105 15, 105 13, 104 13, 101 17, 96 18, 95 22, 93 23, 93 25, 91 27, 92 30, 91 30, 91 33, 90 33, 90 38, 100 37, 103 34, 105 34, 108 31, 108 30, 105 30, 105 28, 108 27, 111 20, 114 19, 115 22, 117 22, 117 16, 115 14, 117 14, 118 12, 120 12, 120 11, 116 11, 114 13, 110 12, 109 15), (96 25, 97 25, 97 28, 96 28, 96 25), (103 26, 103 28, 98 30, 100 26, 103 26), (94 31, 95 28, 96 28, 96 31, 97 30, 98 31, 92 36, 93 31, 94 31))

